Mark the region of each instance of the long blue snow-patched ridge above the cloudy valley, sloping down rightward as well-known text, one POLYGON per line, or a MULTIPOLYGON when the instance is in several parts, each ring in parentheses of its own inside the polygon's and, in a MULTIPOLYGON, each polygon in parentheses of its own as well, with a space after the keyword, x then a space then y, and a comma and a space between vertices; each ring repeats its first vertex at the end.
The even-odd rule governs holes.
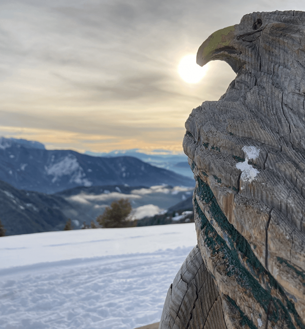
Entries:
POLYGON ((52 194, 76 186, 195 185, 189 177, 131 156, 95 157, 26 142, 3 137, 0 141, 0 180, 18 189, 52 194))

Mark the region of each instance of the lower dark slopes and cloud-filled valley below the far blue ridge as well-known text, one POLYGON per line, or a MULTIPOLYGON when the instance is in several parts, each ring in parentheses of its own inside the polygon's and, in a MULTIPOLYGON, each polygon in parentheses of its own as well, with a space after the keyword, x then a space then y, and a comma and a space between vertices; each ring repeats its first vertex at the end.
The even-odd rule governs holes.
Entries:
MULTIPOLYGON (((130 200, 133 218, 181 213, 191 207, 192 191, 192 188, 170 186, 107 185, 76 187, 50 195, 18 190, 0 181, 0 220, 6 235, 61 231, 69 218, 74 228, 80 229, 83 222, 90 225, 107 206, 120 198, 130 200)), ((150 221, 147 223, 145 225, 152 225, 150 221)))

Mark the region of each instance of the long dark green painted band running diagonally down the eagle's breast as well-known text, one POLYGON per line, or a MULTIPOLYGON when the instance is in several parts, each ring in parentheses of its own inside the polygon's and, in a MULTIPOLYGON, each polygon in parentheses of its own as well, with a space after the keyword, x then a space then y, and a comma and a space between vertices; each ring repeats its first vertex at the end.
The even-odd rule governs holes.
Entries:
MULTIPOLYGON (((210 186, 197 178, 196 194, 201 201, 206 204, 210 217, 217 223, 218 227, 228 237, 228 242, 216 232, 214 227, 202 212, 196 199, 194 199, 194 210, 201 218, 201 230, 205 236, 205 244, 209 248, 211 255, 220 254, 225 265, 225 275, 234 277, 237 284, 245 288, 252 294, 254 299, 268 313, 268 321, 276 323, 286 323, 287 328, 295 329, 291 316, 297 323, 297 328, 305 329, 304 324, 295 310, 284 290, 279 286, 273 276, 262 266, 253 253, 248 241, 240 234, 220 209, 217 200, 212 193, 210 186), (259 282, 265 283, 264 289, 259 282), (277 290, 277 295, 281 296, 283 302, 271 295, 271 289, 277 290)), ((245 314, 241 314, 246 317, 245 314)), ((245 319, 248 323, 250 319, 245 319)), ((249 326, 252 328, 252 324, 249 326)))

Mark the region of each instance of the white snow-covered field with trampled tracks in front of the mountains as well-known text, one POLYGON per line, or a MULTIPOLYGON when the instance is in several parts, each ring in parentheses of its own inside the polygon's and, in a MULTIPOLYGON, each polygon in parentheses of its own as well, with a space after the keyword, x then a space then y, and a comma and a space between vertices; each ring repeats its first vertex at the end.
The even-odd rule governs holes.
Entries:
POLYGON ((0 238, 0 328, 133 329, 160 321, 194 223, 0 238))

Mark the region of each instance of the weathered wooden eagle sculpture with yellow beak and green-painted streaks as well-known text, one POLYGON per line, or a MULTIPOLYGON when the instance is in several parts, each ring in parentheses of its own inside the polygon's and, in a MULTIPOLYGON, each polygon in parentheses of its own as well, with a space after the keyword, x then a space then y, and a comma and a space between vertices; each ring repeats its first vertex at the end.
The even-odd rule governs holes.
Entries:
POLYGON ((186 122, 198 245, 159 329, 305 329, 305 12, 245 15, 215 59, 237 76, 186 122))

